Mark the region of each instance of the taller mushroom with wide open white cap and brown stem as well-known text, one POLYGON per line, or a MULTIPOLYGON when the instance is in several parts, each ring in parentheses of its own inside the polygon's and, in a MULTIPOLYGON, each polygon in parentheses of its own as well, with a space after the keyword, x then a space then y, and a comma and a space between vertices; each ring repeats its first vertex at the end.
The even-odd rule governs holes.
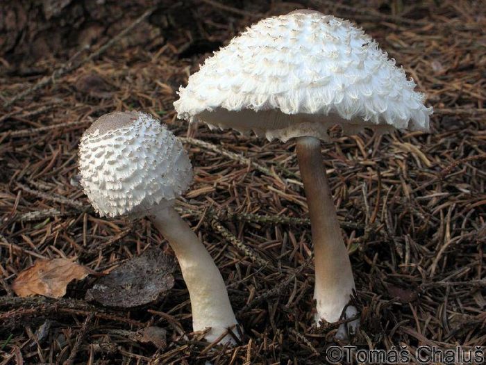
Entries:
MULTIPOLYGON (((428 130, 432 108, 369 35, 351 22, 296 10, 253 24, 206 59, 174 102, 178 117, 210 127, 254 131, 296 154, 308 201, 315 252, 315 321, 356 314, 351 262, 323 167, 328 129, 428 130), (344 310, 345 309, 345 310, 344 310)), ((355 330, 342 325, 337 337, 355 330)))

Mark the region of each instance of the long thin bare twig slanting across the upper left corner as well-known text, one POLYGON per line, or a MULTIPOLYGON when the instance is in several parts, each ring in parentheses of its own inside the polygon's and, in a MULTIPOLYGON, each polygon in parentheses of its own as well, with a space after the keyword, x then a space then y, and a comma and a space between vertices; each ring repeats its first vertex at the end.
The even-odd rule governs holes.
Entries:
POLYGON ((53 83, 54 81, 56 81, 57 78, 59 78, 61 76, 64 76, 65 74, 76 70, 78 67, 80 67, 81 65, 89 62, 90 60, 93 60, 94 58, 97 58, 98 56, 100 56, 101 54, 103 54, 103 52, 105 52, 108 48, 112 47, 114 44, 116 44, 117 42, 119 42, 119 40, 121 40, 121 38, 124 38, 125 35, 127 35, 128 33, 130 33, 135 28, 135 26, 137 26, 138 24, 140 24, 141 22, 143 22, 144 19, 146 19, 146 17, 149 17, 149 15, 151 15, 151 13, 153 13, 154 10, 156 10, 156 6, 150 8, 149 10, 146 10, 146 12, 143 13, 142 15, 140 15, 140 17, 138 17, 137 19, 135 19, 135 21, 132 24, 130 24, 123 31, 121 31, 120 33, 118 33, 117 35, 115 35, 115 37, 113 37, 110 40, 108 40, 108 42, 106 42, 105 44, 103 44, 103 46, 99 47, 99 49, 97 51, 93 52, 92 54, 90 54, 86 58, 83 58, 83 60, 81 60, 79 62, 76 62, 76 63, 73 63, 74 59, 78 56, 78 54, 81 54, 81 52, 85 50, 86 47, 84 47, 83 49, 81 49, 80 51, 78 51, 78 53, 76 55, 74 55, 72 57, 72 59, 69 60, 68 63, 65 63, 64 65, 62 65, 60 68, 58 68, 58 70, 55 70, 51 74, 51 76, 46 77, 46 78, 40 80, 39 82, 37 82, 31 88, 28 88, 27 90, 25 90, 23 92, 20 92, 18 95, 16 95, 15 97, 12 97, 12 99, 10 99, 7 102, 5 102, 3 104, 3 108, 7 108, 8 106, 14 104, 18 100, 24 99, 24 97, 26 97, 27 95, 31 94, 32 92, 34 92, 36 90, 39 90, 40 88, 43 88, 44 86, 47 86, 50 83, 53 83))

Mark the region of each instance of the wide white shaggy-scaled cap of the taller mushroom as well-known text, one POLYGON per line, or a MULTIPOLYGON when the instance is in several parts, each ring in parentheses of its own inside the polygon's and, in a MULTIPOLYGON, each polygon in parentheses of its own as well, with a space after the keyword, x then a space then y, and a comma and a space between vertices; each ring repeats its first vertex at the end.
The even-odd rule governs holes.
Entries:
POLYGON ((351 22, 297 11, 253 24, 180 88, 178 117, 284 142, 344 133, 428 130, 432 108, 395 60, 351 22))

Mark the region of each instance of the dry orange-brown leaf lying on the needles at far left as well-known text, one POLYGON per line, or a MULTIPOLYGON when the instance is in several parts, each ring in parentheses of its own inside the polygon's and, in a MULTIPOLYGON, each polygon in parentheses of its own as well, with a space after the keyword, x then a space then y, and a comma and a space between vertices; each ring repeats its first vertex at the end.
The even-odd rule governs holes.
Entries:
POLYGON ((69 282, 84 279, 90 273, 90 269, 71 259, 37 260, 34 266, 17 276, 12 289, 20 297, 44 295, 49 298, 61 298, 66 294, 69 282))

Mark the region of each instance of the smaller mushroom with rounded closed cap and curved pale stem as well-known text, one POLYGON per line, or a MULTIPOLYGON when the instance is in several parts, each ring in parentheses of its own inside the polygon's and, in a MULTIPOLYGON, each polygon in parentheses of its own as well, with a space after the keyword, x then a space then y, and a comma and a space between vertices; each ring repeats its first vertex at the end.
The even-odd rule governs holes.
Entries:
POLYGON ((81 186, 100 216, 149 216, 167 238, 189 291, 194 331, 208 341, 233 341, 237 321, 221 273, 209 252, 174 209, 192 181, 192 167, 178 140, 148 114, 103 115, 79 144, 81 186))

